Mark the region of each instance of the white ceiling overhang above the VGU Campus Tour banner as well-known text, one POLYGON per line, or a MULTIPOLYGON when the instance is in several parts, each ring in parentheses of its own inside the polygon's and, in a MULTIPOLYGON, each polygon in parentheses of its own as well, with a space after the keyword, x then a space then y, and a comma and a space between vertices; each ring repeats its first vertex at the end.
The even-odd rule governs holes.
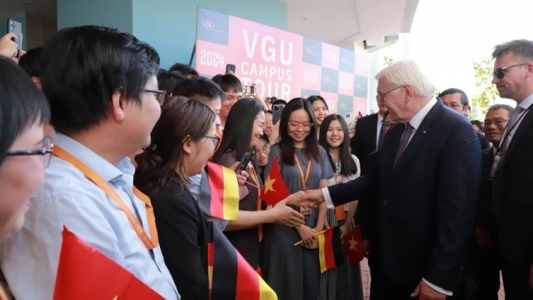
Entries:
POLYGON ((288 30, 354 50, 407 33, 418 0, 279 0, 287 4, 288 30))

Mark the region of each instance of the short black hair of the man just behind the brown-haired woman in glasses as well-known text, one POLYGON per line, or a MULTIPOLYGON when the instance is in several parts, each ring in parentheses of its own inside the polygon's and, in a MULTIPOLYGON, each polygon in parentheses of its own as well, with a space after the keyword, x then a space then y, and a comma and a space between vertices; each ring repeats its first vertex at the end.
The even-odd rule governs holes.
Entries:
POLYGON ((211 79, 202 76, 186 78, 176 86, 172 94, 174 96, 187 97, 188 99, 196 99, 204 104, 212 99, 226 99, 226 94, 217 83, 213 83, 211 79))

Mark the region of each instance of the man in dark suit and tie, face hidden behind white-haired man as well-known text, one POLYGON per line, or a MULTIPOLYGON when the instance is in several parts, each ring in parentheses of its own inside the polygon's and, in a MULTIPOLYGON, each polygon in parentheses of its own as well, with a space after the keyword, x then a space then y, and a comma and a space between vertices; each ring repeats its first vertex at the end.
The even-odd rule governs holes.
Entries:
POLYGON ((382 146, 383 138, 385 137, 383 126, 385 123, 386 106, 378 98, 377 101, 378 113, 369 114, 357 119, 355 136, 352 138, 350 144, 352 154, 357 156, 361 163, 362 174, 368 170, 367 156, 382 146))

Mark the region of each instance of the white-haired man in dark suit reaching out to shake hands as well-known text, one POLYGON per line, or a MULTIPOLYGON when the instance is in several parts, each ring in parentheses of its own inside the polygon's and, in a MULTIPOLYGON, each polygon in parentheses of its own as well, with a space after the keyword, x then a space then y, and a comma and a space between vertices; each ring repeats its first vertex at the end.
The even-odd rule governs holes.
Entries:
POLYGON ((433 83, 414 62, 398 61, 376 78, 378 98, 398 123, 375 168, 346 184, 307 191, 300 201, 332 206, 378 194, 381 299, 457 295, 473 233, 479 140, 464 116, 433 96, 433 83))

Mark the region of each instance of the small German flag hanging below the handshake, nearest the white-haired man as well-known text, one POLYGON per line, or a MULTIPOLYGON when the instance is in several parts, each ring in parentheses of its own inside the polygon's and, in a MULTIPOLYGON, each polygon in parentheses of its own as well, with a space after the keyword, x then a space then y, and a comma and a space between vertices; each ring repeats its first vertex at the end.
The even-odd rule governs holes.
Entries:
POLYGON ((344 264, 344 252, 340 243, 338 226, 317 234, 318 257, 320 260, 320 272, 326 272, 338 265, 344 264))

